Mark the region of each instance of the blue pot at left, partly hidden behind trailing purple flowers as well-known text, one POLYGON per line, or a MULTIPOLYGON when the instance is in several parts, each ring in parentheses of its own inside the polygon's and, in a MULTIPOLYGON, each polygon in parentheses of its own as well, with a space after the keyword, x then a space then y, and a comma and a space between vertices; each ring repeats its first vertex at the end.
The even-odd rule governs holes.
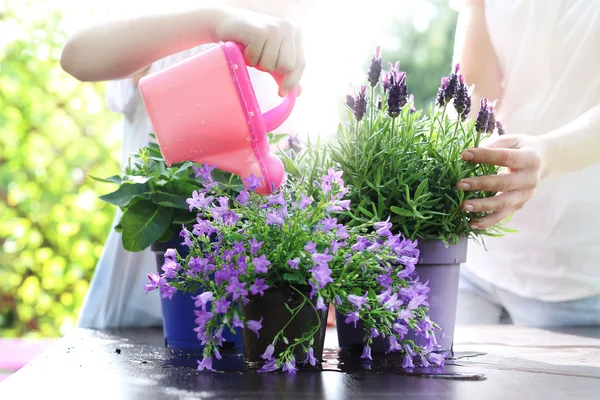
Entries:
MULTIPOLYGON (((161 267, 165 263, 164 253, 167 249, 177 249, 181 257, 187 257, 189 248, 181 245, 179 237, 173 238, 168 242, 154 243, 152 251, 156 254, 156 266, 159 273, 162 273, 161 267)), ((185 350, 192 352, 200 352, 203 346, 198 340, 194 328, 198 325, 194 323, 196 315, 194 310, 194 299, 192 296, 201 294, 204 290, 200 288, 198 292, 181 293, 176 292, 173 299, 161 299, 163 312, 163 333, 165 335, 165 345, 167 347, 185 350)), ((210 307, 210 303, 208 305, 210 307)), ((227 330, 223 333, 223 338, 226 340, 224 347, 242 348, 242 333, 241 329, 236 329, 236 334, 233 335, 227 330)))

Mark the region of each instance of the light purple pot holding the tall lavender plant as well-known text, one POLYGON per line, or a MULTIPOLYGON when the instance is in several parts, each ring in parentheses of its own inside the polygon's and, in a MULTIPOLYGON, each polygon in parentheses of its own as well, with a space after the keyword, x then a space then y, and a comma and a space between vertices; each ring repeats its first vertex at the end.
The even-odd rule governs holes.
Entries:
MULTIPOLYGON (((419 240, 417 248, 420 251, 419 263, 416 265, 416 274, 423 283, 429 281, 431 289, 427 294, 429 302, 429 316, 433 322, 440 326, 436 331, 439 345, 438 352, 452 354, 454 341, 454 325, 456 323, 456 302, 458 300, 458 279, 460 264, 467 259, 468 239, 461 238, 456 245, 446 246, 441 240, 419 240)), ((362 349, 363 326, 357 327, 344 323, 345 316, 336 312, 336 325, 338 342, 341 348, 362 349)), ((412 332, 405 337, 415 340, 417 344, 424 344, 424 338, 415 337, 412 332)), ((387 340, 376 339, 371 346, 373 352, 385 352, 387 340)))

